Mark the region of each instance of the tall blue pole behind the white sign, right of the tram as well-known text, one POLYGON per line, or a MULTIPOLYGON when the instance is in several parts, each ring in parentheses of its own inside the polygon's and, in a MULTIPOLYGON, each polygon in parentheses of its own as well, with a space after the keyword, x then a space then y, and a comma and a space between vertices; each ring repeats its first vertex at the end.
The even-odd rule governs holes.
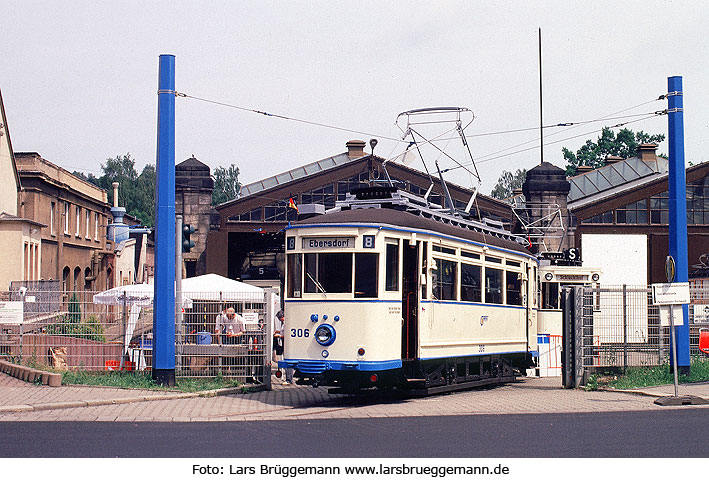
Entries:
MULTIPOLYGON (((682 77, 667 78, 668 137, 670 151, 670 255, 676 263, 676 282, 689 279, 687 257, 687 190, 684 168, 684 104, 682 100, 682 77)), ((683 326, 677 330, 677 368, 689 375, 689 306, 682 305, 683 326)))

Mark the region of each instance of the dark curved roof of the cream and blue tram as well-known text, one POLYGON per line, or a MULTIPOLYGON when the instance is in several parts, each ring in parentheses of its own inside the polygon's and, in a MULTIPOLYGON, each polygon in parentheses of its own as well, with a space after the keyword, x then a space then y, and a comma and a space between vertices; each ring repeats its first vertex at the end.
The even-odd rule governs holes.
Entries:
POLYGON ((482 245, 500 247, 507 250, 520 252, 530 257, 534 257, 529 250, 517 242, 507 240, 495 235, 488 235, 483 232, 461 228, 448 223, 432 220, 401 210, 391 208, 359 208, 351 210, 334 211, 324 215, 314 216, 305 220, 294 222, 293 227, 304 225, 320 225, 320 224, 379 224, 388 225, 399 228, 410 228, 413 230, 422 230, 427 232, 435 232, 443 236, 451 236, 454 238, 462 238, 470 240, 482 245))

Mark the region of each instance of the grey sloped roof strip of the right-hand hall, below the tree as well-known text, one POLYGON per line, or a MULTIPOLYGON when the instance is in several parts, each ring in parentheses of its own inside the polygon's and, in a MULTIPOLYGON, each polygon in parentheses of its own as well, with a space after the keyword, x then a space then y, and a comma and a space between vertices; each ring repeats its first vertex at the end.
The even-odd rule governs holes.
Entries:
POLYGON ((669 161, 659 156, 655 161, 643 161, 639 157, 631 157, 608 164, 570 178, 571 189, 567 201, 570 206, 572 204, 580 206, 604 199, 631 186, 662 179, 667 175, 668 168, 669 161))

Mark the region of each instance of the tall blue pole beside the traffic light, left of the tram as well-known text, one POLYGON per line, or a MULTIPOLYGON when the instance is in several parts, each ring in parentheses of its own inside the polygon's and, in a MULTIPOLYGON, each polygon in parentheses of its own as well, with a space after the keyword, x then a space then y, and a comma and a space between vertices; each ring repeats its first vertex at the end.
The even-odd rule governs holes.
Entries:
POLYGON ((153 378, 175 384, 175 56, 160 55, 155 182, 153 378))

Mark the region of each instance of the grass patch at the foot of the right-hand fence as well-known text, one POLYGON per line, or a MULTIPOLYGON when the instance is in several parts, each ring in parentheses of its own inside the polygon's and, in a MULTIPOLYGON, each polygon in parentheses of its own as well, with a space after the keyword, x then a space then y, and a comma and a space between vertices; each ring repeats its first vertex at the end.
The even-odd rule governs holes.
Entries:
MULTIPOLYGON (((689 376, 679 374, 680 384, 709 381, 709 360, 693 358, 689 376)), ((629 367, 625 374, 594 374, 589 377, 586 390, 599 386, 613 389, 638 389, 674 383, 674 373, 669 364, 654 367, 629 367)))

